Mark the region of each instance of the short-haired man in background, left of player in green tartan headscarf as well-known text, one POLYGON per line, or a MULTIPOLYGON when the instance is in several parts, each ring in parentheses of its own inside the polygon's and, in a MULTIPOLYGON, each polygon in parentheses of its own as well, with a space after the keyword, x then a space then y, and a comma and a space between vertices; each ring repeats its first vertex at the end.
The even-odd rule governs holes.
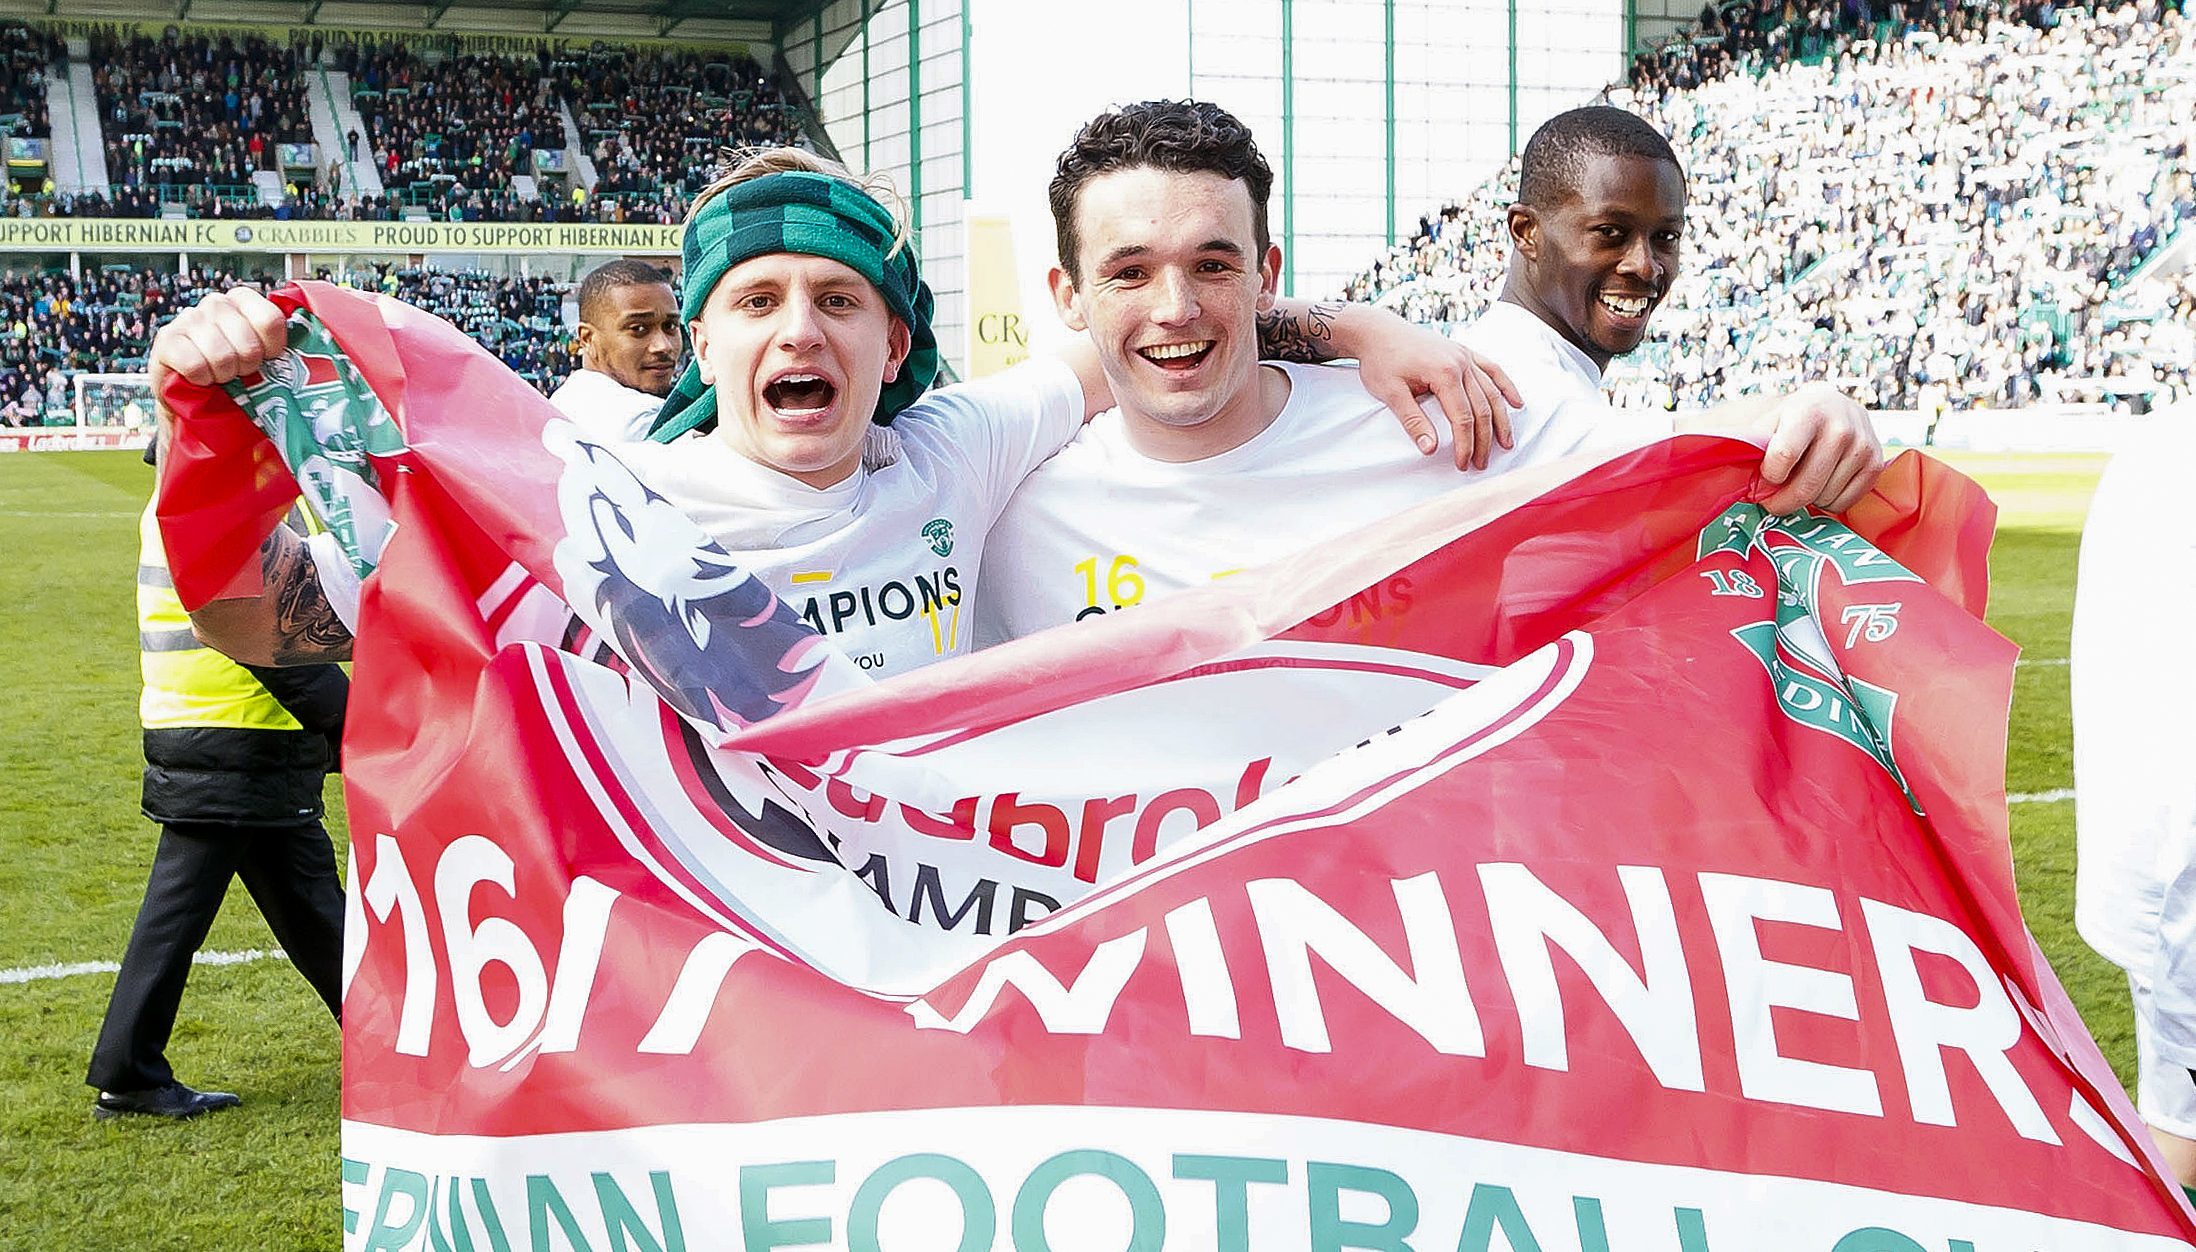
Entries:
POLYGON ((659 266, 630 257, 580 279, 580 369, 549 398, 606 444, 646 439, 679 380, 679 297, 659 266))

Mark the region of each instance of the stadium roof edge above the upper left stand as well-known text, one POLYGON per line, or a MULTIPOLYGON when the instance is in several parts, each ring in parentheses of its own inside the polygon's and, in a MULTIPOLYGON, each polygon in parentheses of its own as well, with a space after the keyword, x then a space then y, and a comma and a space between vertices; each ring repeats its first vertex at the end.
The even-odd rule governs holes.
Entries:
POLYGON ((828 0, 0 0, 0 18, 244 22, 782 46, 828 0))

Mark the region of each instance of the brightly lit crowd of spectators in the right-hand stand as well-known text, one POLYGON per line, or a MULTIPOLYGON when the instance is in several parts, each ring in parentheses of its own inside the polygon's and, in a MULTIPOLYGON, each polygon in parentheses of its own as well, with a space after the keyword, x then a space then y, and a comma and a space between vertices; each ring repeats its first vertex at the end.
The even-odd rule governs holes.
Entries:
MULTIPOLYGON (((1614 90, 1689 176, 1684 277, 1621 402, 1708 404, 1829 378, 1880 409, 2189 393, 2178 297, 2126 283, 2196 220, 2196 22, 2154 0, 2003 4, 1693 88, 1614 90), (2099 384, 2099 380, 2106 380, 2099 384)), ((1351 283, 1465 321, 1509 259, 1515 167, 1351 283)))

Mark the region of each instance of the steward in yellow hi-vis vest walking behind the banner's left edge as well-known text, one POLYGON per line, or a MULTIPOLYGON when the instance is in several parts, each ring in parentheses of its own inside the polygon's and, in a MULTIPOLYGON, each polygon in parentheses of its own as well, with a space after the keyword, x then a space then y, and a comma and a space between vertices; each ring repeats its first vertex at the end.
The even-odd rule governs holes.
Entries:
POLYGON ((327 1010, 340 1010, 343 881, 321 793, 338 762, 349 679, 340 666, 239 666, 200 644, 152 505, 138 534, 143 804, 160 846, 86 1083, 99 1087, 99 1118, 189 1118, 239 1103, 178 1083, 167 1063, 191 955, 233 876, 327 1010))

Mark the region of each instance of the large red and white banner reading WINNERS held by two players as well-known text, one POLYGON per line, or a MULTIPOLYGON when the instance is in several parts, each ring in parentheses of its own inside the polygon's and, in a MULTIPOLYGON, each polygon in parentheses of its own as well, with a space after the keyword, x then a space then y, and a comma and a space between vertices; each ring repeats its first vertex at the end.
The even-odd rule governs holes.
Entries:
POLYGON ((354 1250, 2196 1237, 2020 923, 1943 466, 1467 479, 870 688, 452 327, 277 299, 160 516, 193 604, 299 488, 369 573, 354 1250))

